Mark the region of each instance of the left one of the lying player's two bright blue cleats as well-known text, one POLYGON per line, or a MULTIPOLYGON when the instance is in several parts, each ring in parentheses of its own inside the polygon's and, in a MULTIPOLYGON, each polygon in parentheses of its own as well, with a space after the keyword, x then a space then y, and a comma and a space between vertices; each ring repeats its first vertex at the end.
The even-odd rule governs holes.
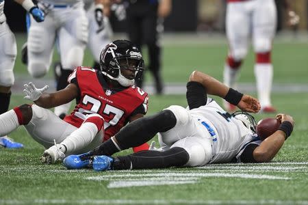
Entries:
POLYGON ((90 154, 90 152, 78 155, 70 155, 63 160, 62 165, 64 165, 64 167, 66 167, 67 169, 81 169, 91 167, 91 156, 92 154, 90 154))

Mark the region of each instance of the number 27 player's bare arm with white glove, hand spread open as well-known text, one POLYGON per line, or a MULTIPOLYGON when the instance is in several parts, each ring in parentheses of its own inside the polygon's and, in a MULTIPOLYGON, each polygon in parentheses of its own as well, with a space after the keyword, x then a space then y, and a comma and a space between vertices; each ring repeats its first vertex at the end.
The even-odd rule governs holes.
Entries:
POLYGON ((26 96, 24 98, 34 101, 34 103, 40 107, 49 109, 66 104, 75 99, 78 95, 77 85, 73 83, 68 84, 63 90, 53 93, 45 93, 48 88, 48 85, 37 88, 34 83, 31 82, 25 84, 23 92, 26 96))

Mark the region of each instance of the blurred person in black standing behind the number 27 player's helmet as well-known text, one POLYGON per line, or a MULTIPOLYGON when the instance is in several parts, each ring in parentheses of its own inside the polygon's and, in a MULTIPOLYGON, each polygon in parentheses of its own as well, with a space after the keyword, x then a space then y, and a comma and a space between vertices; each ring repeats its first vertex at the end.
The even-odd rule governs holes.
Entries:
MULTIPOLYGON (((105 0, 105 7, 110 7, 112 0, 105 0)), ((127 33, 129 40, 136 44, 141 51, 146 44, 149 53, 149 66, 147 66, 155 82, 157 94, 162 94, 164 83, 161 74, 162 51, 159 34, 164 30, 164 18, 171 12, 171 0, 136 0, 123 1, 126 7, 127 33)), ((142 87, 142 81, 136 81, 142 87)))

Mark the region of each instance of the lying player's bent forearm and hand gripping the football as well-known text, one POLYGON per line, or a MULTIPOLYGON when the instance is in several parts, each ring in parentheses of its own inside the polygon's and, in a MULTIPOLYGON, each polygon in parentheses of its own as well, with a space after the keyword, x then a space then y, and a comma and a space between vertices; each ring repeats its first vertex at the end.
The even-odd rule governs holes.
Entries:
POLYGON ((278 131, 264 139, 260 146, 253 151, 253 158, 259 163, 271 161, 283 146, 285 139, 287 139, 293 131, 294 120, 292 116, 278 114, 276 118, 281 120, 281 126, 278 131))

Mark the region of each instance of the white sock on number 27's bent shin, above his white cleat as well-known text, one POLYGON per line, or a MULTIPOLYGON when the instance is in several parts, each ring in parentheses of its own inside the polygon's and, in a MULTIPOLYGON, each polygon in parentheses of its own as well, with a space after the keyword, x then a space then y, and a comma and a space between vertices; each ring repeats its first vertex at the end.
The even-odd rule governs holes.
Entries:
POLYGON ((94 123, 84 122, 77 130, 70 133, 70 135, 60 143, 60 146, 66 147, 66 153, 75 153, 85 146, 88 146, 97 135, 98 131, 94 123))

